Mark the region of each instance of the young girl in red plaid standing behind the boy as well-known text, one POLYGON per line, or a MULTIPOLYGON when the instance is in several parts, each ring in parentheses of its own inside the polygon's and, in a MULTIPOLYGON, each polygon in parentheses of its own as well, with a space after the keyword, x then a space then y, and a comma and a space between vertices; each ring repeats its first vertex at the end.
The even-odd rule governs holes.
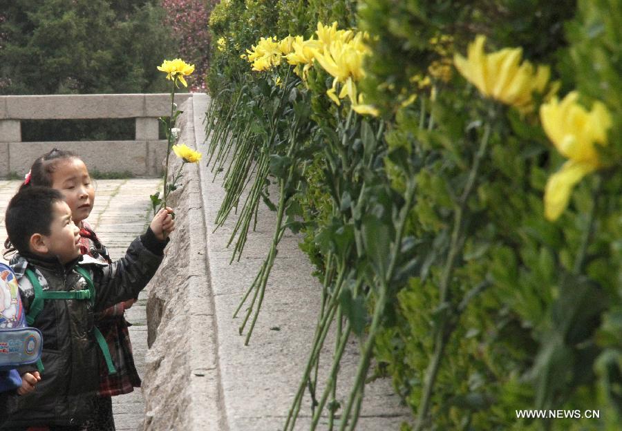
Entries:
MULTIPOLYGON (((93 209, 95 189, 84 162, 74 153, 53 149, 39 157, 28 173, 26 184, 49 186, 63 193, 71 209, 73 222, 80 228, 82 253, 102 262, 111 263, 106 247, 97 238, 86 218, 93 209)), ((86 424, 86 431, 113 431, 115 423, 111 396, 127 394, 140 387, 140 377, 134 365, 128 323, 124 311, 134 300, 119 303, 95 315, 95 325, 108 344, 116 373, 109 368, 100 355, 100 390, 93 410, 93 419, 86 424)))

